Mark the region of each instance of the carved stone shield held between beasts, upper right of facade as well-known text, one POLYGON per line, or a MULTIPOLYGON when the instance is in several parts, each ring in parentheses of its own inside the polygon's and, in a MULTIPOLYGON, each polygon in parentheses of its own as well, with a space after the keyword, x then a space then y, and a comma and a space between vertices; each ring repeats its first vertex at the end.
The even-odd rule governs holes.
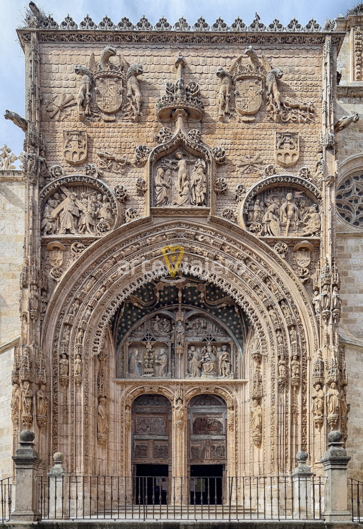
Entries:
POLYGON ((236 108, 240 114, 251 116, 260 110, 262 81, 262 75, 250 72, 235 77, 236 108))

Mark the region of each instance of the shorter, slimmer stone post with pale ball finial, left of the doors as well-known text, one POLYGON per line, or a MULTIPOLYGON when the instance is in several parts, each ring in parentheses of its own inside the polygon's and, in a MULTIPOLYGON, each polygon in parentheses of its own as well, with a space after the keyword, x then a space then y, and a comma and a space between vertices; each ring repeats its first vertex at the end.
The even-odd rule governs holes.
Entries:
POLYGON ((48 472, 49 476, 49 518, 69 518, 68 513, 68 479, 63 467, 62 452, 53 454, 54 466, 48 472))

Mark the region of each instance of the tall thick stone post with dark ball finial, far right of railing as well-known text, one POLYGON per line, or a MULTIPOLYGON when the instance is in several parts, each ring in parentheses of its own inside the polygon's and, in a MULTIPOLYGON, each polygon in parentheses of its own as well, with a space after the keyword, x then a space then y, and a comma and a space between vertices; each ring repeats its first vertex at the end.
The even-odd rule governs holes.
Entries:
POLYGON ((346 521, 351 518, 348 510, 347 464, 350 457, 343 449, 342 434, 339 431, 329 432, 328 450, 321 463, 327 478, 325 486, 324 518, 328 522, 346 521))

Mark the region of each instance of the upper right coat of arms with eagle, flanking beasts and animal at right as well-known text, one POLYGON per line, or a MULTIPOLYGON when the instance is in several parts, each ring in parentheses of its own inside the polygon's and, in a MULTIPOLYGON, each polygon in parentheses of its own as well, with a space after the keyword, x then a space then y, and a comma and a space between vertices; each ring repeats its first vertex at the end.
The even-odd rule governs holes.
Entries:
POLYGON ((307 123, 314 120, 313 104, 284 98, 280 93, 282 68, 273 68, 269 60, 264 55, 259 57, 251 45, 229 68, 219 68, 216 75, 221 79, 217 98, 219 121, 224 121, 233 112, 230 101, 233 87, 236 111, 242 121, 253 122, 263 103, 268 121, 307 123))

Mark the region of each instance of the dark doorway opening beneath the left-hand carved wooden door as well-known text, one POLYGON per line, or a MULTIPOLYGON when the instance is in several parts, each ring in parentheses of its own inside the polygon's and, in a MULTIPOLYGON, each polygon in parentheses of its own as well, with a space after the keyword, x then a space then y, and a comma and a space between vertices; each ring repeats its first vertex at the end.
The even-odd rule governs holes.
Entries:
POLYGON ((133 497, 136 505, 166 505, 169 465, 135 464, 133 497))

